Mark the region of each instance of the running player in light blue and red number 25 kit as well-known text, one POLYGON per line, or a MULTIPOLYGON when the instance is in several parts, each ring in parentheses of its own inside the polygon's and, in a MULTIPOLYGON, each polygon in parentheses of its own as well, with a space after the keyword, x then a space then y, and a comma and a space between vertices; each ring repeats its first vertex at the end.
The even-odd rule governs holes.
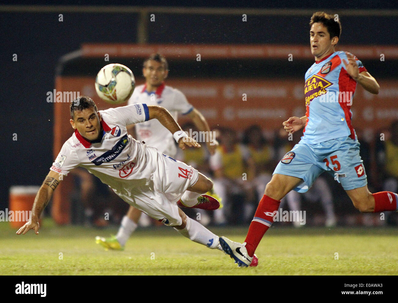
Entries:
POLYGON ((259 202, 243 244, 220 237, 224 252, 239 266, 252 265, 261 238, 273 223, 283 197, 292 189, 305 192, 327 171, 341 183, 361 212, 397 210, 398 195, 370 193, 359 143, 351 124, 352 96, 357 84, 373 94, 379 85, 361 61, 336 52, 341 24, 334 15, 316 12, 310 20, 310 45, 315 63, 305 74, 306 115, 283 122, 289 133, 304 127, 301 141, 279 162, 259 202))

